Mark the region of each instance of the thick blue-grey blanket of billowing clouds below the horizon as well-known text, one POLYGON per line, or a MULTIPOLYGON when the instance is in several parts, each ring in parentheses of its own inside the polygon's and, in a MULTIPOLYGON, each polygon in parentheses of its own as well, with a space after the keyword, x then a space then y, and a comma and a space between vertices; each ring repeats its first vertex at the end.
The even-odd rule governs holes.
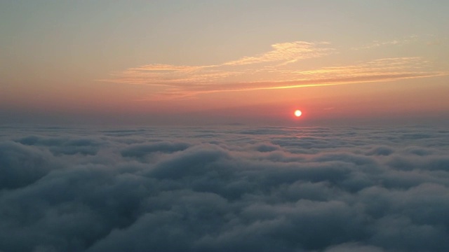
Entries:
POLYGON ((0 251, 448 251, 449 131, 4 128, 0 251))

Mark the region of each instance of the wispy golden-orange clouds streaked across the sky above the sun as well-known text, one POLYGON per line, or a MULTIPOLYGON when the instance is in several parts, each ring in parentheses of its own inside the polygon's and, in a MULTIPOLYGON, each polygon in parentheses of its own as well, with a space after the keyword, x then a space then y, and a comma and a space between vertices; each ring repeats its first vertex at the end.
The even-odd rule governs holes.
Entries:
MULTIPOLYGON (((398 44, 389 41, 383 44, 398 44)), ((377 46, 377 45, 376 45, 377 46)), ((380 45, 379 45, 380 46, 380 45)), ((365 47, 371 48, 371 47, 365 47)), ((328 42, 276 43, 272 50, 222 64, 147 64, 112 73, 100 81, 149 85, 159 89, 142 100, 180 99, 213 92, 269 90, 320 85, 425 78, 448 74, 423 57, 391 57, 356 64, 307 69, 304 60, 337 53, 328 42)))

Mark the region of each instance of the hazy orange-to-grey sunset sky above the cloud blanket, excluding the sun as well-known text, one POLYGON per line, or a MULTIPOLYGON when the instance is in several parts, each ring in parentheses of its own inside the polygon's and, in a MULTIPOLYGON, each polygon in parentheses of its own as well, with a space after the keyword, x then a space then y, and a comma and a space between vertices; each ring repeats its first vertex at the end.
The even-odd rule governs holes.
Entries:
POLYGON ((445 0, 1 1, 0 120, 441 120, 447 13, 445 0))

